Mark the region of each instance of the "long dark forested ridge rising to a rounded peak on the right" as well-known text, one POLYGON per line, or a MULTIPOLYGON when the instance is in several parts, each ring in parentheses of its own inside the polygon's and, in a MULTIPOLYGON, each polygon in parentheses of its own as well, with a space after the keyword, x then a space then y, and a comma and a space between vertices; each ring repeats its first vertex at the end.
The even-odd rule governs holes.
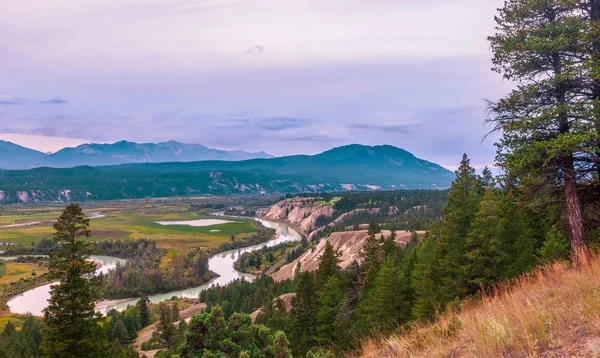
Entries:
POLYGON ((312 156, 4 171, 0 203, 436 189, 453 179, 451 171, 403 149, 355 144, 312 156))

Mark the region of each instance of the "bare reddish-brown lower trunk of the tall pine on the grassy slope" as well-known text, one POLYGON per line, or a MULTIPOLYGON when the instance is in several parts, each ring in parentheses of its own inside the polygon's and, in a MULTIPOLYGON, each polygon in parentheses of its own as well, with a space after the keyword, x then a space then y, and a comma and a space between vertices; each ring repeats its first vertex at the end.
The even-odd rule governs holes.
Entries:
POLYGON ((564 168, 565 196, 567 199, 567 217, 571 232, 571 261, 575 267, 580 267, 587 261, 588 250, 583 232, 581 205, 577 196, 577 178, 573 168, 573 158, 568 159, 564 168))

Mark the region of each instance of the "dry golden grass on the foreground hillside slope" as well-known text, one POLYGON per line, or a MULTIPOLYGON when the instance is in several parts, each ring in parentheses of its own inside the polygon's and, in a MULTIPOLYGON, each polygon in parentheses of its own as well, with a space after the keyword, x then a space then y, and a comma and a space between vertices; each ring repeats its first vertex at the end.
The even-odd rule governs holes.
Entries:
POLYGON ((432 324, 363 345, 362 357, 600 357, 600 257, 536 269, 432 324))

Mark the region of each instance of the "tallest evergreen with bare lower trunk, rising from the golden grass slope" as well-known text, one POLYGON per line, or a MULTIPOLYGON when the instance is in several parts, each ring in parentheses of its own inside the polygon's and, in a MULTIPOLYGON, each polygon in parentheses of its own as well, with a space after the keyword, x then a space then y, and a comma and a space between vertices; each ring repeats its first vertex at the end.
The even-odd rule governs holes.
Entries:
POLYGON ((490 121, 502 131, 498 161, 536 193, 541 188, 556 197, 554 189, 560 191, 575 265, 587 256, 580 179, 600 168, 600 85, 594 72, 600 48, 594 15, 600 14, 591 5, 586 22, 584 3, 508 0, 489 37, 494 70, 519 84, 491 105, 490 121))

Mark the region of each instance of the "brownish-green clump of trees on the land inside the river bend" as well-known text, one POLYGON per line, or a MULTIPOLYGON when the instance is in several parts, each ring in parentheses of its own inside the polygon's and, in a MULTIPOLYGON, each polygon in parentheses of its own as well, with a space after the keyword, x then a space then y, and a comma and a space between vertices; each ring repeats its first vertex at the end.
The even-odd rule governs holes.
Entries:
POLYGON ((103 276, 104 297, 125 298, 169 292, 200 286, 212 278, 208 270, 208 256, 200 249, 186 253, 172 269, 161 269, 164 250, 158 249, 154 241, 141 239, 135 243, 134 255, 103 276))

